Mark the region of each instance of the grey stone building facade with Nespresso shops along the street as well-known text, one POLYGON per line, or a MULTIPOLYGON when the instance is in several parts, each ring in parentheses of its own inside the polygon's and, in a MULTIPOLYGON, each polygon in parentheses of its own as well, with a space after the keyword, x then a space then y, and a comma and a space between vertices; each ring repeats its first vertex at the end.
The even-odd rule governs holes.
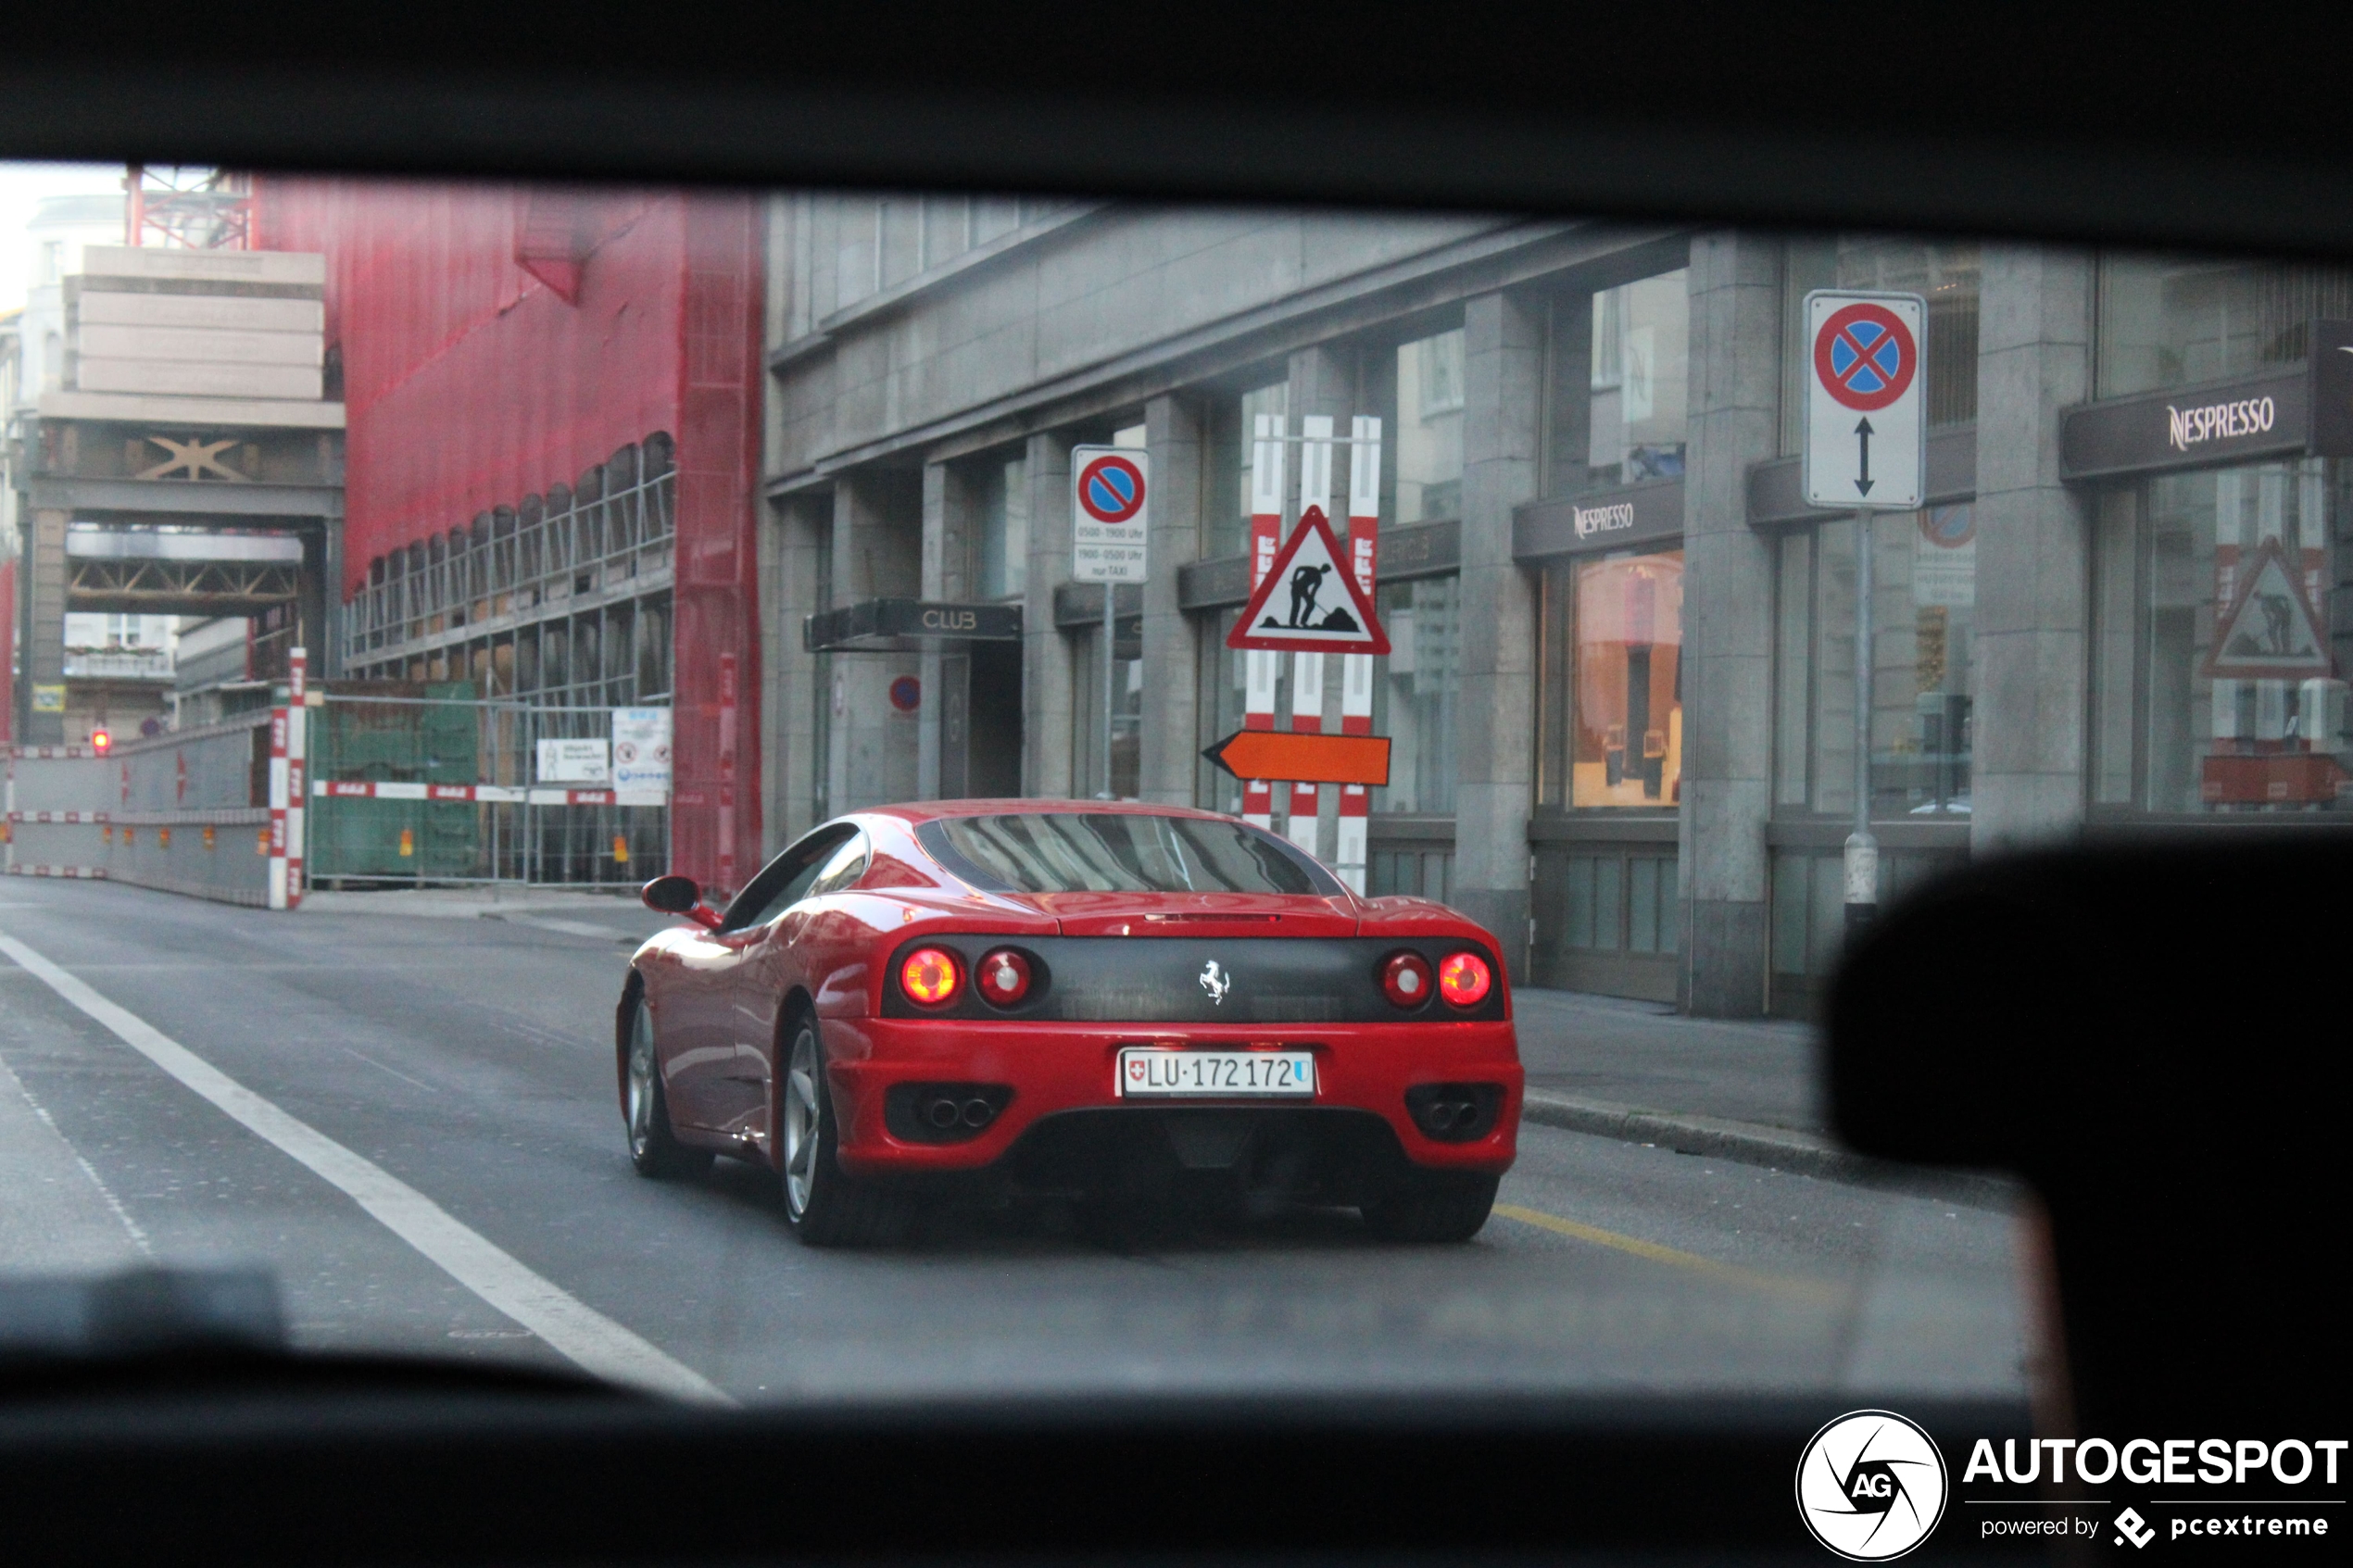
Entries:
MULTIPOLYGON (((1929 303, 1927 505, 1875 517, 1868 543, 1882 898, 2106 825, 2341 823, 2353 515, 2308 374, 2353 315, 2337 275, 786 195, 767 214, 769 846, 887 799, 1085 797, 1106 764, 1115 795, 1238 811, 1200 750, 1245 703, 1224 637, 1252 585, 1254 423, 1374 416, 1393 771, 1369 891, 1454 903, 1539 985, 1809 1013, 1842 940, 1859 543, 1798 473, 1817 287, 1929 303), (1151 578, 1115 592, 1108 649, 1101 588, 1068 581, 1071 451, 1104 442, 1153 475, 1151 578), (901 602, 981 630, 915 635, 901 602)), ((1287 484, 1285 527, 1297 461, 1287 484)), ((1301 701, 1280 661, 1278 715, 1337 729, 1341 661, 1322 663, 1301 701)), ((1318 792, 1327 858, 1337 809, 1318 792)))

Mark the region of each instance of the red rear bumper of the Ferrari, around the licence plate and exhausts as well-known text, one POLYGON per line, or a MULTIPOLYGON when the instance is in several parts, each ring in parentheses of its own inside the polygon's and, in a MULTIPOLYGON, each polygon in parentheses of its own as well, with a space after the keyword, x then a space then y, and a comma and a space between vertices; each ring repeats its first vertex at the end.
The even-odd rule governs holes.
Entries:
POLYGON ((1388 1159, 1431 1171, 1501 1173, 1518 1150, 1520 1053, 1508 1020, 1379 1025, 1120 1027, 1101 1023, 965 1023, 835 1018, 824 1023, 840 1159, 854 1175, 1005 1171, 1028 1185, 1075 1150, 1106 1152, 1125 1131, 1179 1164, 1207 1168, 1221 1152, 1242 1164, 1278 1147, 1341 1150, 1334 1159, 1388 1159), (1118 1093, 1122 1046, 1315 1053, 1315 1098, 1144 1100, 1118 1093), (1407 1105, 1426 1086, 1492 1091, 1478 1135, 1428 1135, 1407 1105), (911 1093, 958 1086, 988 1098, 991 1121, 953 1140, 911 1124, 911 1093), (894 1098, 892 1091, 899 1091, 894 1098), (984 1093, 986 1091, 986 1093, 984 1093), (1386 1133, 1386 1135, 1384 1135, 1386 1133), (1007 1159, 1012 1157, 1012 1159, 1007 1159))

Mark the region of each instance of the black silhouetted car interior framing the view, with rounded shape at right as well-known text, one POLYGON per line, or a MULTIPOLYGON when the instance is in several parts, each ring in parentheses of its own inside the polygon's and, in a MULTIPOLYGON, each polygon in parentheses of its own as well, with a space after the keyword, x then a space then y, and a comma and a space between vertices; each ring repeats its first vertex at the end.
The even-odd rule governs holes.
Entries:
MULTIPOLYGON (((1574 0, 1207 0, 1181 16, 1066 0, 478 0, 398 16, 52 5, 12 16, 0 155, 1522 209, 2353 259, 2346 12, 2177 26, 2146 7, 1671 2, 1640 12, 1647 52, 1626 47, 1628 16, 1574 0), (1824 42, 1849 28, 1897 61, 1868 106, 1824 42)), ((1882 1159, 2024 1175, 2059 1324, 2042 1408, 1913 1399, 1908 1413, 1995 1439, 2038 1422, 2188 1432, 2212 1415, 2268 1432, 2344 1413, 2341 1288, 2322 1274, 2346 1190, 2341 1030, 2327 1039, 2292 1001, 2252 1023, 2205 976, 2224 961, 2344 976, 2348 886, 2339 835, 2249 830, 2221 849, 2146 839, 1986 860, 1882 917, 1831 1006, 1833 1124, 1882 1159), (2261 950, 2252 924, 2212 919, 2254 907, 2261 950), (2193 1103, 2209 1131, 2184 1145, 2193 1103)), ((45 1563, 1819 1561, 1788 1505, 1793 1455, 1859 1403, 694 1413, 532 1375, 162 1345, 7 1380, 0 1516, 9 1556, 45 1563), (1214 1505, 1122 1486, 1144 1465, 1207 1474, 1212 1458, 1231 1476, 1214 1505)))

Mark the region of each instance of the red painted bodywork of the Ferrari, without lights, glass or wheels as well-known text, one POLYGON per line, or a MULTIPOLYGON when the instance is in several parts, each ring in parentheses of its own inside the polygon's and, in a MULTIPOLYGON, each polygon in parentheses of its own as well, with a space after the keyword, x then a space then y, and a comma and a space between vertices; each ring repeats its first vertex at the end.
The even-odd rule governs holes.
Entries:
MULTIPOLYGON (((915 830, 939 816, 1207 811, 1106 802, 934 802, 835 818, 871 846, 866 872, 842 891, 793 905, 748 931, 678 926, 631 959, 654 1018, 664 1091, 682 1143, 776 1161, 779 1056, 795 1009, 816 1016, 840 1131, 838 1159, 852 1175, 974 1171, 1002 1159, 1040 1119, 1073 1110, 1139 1105, 1113 1091, 1120 1046, 1282 1044, 1313 1048, 1315 1107, 1381 1117, 1414 1166, 1499 1173, 1518 1147, 1522 1072, 1511 999, 1492 938, 1445 905, 1421 898, 1278 893, 998 893, 967 886, 939 865, 915 830), (1461 1020, 1445 1004, 1395 1023, 1118 1023, 887 1016, 889 959, 925 936, 1042 938, 1381 938, 1461 943, 1494 964, 1501 1016, 1461 1020), (908 1081, 1009 1084, 1012 1100, 979 1135, 915 1143, 885 1126, 885 1095, 908 1081), (1424 1135, 1405 1091, 1435 1081, 1504 1091, 1492 1131, 1468 1143, 1424 1135)), ((967 978, 969 983, 969 978, 967 978)), ((906 1004, 899 1004, 906 1009, 906 1004)), ((624 1046, 626 1051, 626 1046, 624 1046)), ((1155 1103, 1162 1105, 1162 1103, 1155 1103)), ((1186 1105, 1266 1105, 1198 1100, 1186 1105)))

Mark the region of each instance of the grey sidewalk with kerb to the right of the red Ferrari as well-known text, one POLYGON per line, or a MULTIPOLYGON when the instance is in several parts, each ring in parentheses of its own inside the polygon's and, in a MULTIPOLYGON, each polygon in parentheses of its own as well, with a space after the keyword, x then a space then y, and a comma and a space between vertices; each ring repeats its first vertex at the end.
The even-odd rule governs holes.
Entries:
POLYGON ((1522 987, 1511 994, 1539 1126, 1671 1147, 1826 1180, 2009 1208, 2012 1182, 1889 1166, 1840 1147, 1802 1023, 1682 1018, 1657 1001, 1522 987))

